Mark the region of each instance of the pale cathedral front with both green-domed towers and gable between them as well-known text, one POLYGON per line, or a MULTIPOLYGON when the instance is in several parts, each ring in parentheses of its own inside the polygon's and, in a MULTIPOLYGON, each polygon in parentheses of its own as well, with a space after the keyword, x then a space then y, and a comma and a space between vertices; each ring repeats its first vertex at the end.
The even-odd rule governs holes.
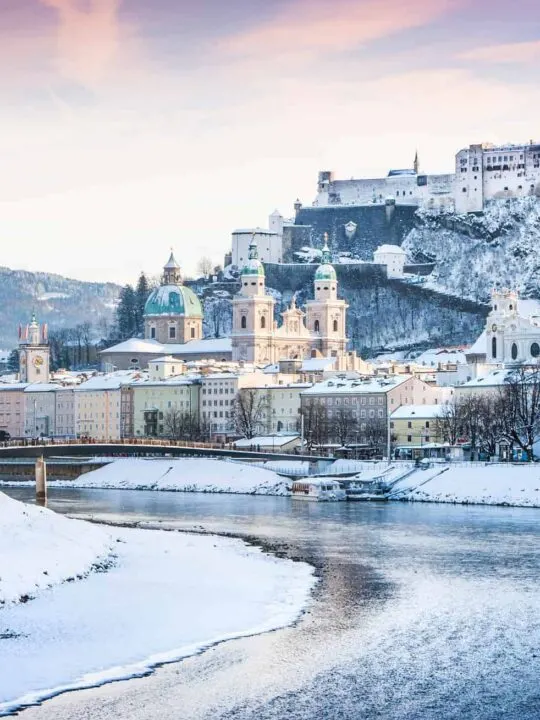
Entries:
POLYGON ((314 278, 314 299, 304 313, 295 300, 274 321, 274 298, 266 292, 264 266, 258 258, 255 240, 249 259, 240 273, 241 288, 233 300, 233 360, 257 364, 309 357, 347 355, 345 331, 348 305, 337 295, 337 276, 331 264, 327 238, 322 264, 314 278))

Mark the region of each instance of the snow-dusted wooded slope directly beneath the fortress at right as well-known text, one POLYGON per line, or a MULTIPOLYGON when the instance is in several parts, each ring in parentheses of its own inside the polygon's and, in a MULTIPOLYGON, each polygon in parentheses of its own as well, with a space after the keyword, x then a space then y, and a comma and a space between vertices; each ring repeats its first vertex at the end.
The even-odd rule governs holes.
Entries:
POLYGON ((432 287, 488 302, 494 285, 540 297, 540 202, 528 197, 490 203, 483 215, 419 210, 403 242, 411 259, 433 258, 432 287))

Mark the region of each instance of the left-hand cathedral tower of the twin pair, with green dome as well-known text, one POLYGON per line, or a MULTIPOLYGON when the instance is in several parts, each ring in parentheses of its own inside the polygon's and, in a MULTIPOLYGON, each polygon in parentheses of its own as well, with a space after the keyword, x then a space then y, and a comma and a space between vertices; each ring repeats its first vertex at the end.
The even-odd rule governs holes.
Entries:
POLYGON ((241 288, 233 299, 233 360, 271 363, 274 298, 266 294, 264 267, 252 238, 249 259, 240 271, 241 288))

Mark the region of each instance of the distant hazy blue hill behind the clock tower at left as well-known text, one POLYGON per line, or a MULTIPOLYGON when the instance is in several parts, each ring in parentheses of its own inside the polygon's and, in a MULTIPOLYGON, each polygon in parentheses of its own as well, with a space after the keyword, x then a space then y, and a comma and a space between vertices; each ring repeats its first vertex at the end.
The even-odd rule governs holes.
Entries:
POLYGON ((51 330, 91 322, 96 335, 103 335, 119 292, 114 283, 0 267, 0 348, 17 344, 19 323, 27 323, 33 311, 51 330))

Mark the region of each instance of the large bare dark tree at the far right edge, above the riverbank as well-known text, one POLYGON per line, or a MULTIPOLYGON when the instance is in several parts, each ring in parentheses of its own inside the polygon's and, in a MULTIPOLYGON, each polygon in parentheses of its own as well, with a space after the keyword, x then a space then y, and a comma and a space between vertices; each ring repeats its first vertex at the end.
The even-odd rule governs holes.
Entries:
POLYGON ((540 367, 520 367, 507 376, 501 388, 502 434, 521 448, 532 462, 540 440, 540 367))

